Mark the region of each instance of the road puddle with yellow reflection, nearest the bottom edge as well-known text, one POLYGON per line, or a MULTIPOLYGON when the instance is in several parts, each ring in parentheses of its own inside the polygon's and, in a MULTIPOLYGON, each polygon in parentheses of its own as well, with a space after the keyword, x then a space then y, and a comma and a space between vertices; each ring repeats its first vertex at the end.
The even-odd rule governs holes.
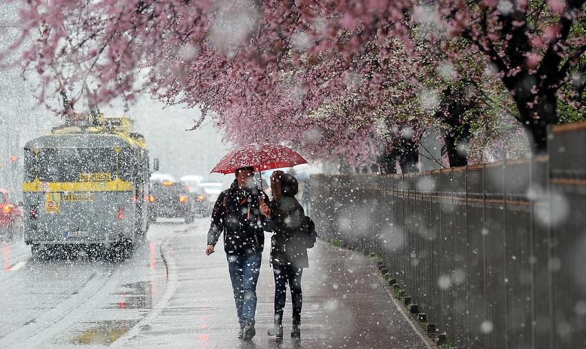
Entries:
POLYGON ((73 343, 110 344, 138 323, 138 320, 99 321, 87 323, 88 329, 76 334, 73 343))

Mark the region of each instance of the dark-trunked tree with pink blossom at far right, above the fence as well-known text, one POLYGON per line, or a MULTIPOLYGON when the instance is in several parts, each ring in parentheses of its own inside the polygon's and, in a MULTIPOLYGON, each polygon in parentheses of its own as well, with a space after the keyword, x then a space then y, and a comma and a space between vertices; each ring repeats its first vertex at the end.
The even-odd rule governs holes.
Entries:
MULTIPOLYGON (((434 1, 449 35, 480 50, 500 77, 531 137, 534 153, 547 147, 557 124, 558 91, 586 52, 585 1, 434 1)), ((462 50, 460 50, 462 52, 462 50)))

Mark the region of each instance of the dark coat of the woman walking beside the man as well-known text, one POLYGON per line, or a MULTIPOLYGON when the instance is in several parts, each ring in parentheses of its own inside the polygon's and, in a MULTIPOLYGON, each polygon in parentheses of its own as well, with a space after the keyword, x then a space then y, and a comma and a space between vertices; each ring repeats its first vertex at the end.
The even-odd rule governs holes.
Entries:
POLYGON ((271 238, 271 263, 309 267, 305 242, 308 226, 303 207, 293 196, 296 193, 296 190, 294 193, 285 192, 281 200, 272 200, 269 205, 271 218, 266 228, 274 233, 271 238))

